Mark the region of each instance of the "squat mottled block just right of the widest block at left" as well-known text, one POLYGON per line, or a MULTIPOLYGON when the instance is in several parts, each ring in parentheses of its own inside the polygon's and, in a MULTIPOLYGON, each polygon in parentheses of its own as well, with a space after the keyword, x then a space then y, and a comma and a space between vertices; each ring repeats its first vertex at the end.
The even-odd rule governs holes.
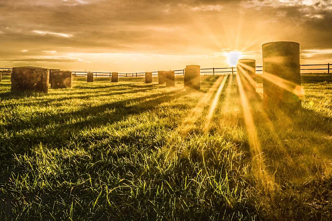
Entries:
POLYGON ((71 88, 73 78, 71 71, 50 71, 49 76, 52 76, 50 80, 51 88, 71 88))

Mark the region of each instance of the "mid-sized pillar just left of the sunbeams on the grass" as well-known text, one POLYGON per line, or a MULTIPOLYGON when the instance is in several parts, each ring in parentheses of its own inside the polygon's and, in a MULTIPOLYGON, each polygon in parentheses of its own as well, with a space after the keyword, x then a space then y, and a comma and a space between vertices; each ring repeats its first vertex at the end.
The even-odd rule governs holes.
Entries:
POLYGON ((185 87, 195 90, 201 89, 201 67, 199 65, 187 65, 185 69, 185 87))

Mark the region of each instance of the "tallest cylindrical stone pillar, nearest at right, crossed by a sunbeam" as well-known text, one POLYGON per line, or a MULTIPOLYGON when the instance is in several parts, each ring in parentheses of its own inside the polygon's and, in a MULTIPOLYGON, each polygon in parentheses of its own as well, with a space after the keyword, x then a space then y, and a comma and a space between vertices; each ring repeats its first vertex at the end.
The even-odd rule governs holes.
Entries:
POLYGON ((263 105, 268 110, 301 108, 300 44, 265 43, 263 49, 263 105))

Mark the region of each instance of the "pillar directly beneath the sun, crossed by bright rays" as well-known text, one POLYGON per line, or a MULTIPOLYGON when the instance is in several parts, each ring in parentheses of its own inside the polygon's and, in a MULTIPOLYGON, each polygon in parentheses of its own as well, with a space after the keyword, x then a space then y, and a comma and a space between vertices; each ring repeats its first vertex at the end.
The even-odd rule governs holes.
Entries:
MULTIPOLYGON (((236 74, 240 78, 247 97, 254 96, 256 94, 256 60, 239 59, 236 65, 236 74)), ((237 92, 239 93, 239 85, 237 85, 237 92)))

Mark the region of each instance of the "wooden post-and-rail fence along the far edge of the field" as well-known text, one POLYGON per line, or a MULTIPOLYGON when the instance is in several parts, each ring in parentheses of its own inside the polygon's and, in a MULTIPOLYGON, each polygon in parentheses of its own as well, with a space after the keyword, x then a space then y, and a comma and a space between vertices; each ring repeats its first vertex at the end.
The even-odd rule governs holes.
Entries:
MULTIPOLYGON (((323 73, 330 74, 331 68, 330 63, 328 64, 314 64, 314 65, 301 65, 301 74, 321 74, 323 73), (326 66, 326 68, 305 68, 307 66, 326 66), (307 71, 316 71, 316 72, 307 72, 307 71), (326 72, 325 72, 326 71, 326 72)), ((262 74, 263 66, 256 66, 256 74, 262 74), (259 70, 257 70, 257 68, 259 70)), ((1 73, 11 73, 12 68, 0 68, 1 73), (1 71, 1 70, 9 70, 9 71, 1 71)), ((185 70, 174 70, 176 75, 184 76, 185 70)), ((111 77, 112 72, 85 72, 85 71, 73 71, 73 76, 87 76, 88 73, 93 73, 96 77, 111 77)), ((225 74, 234 74, 236 73, 236 67, 229 67, 229 68, 201 68, 201 75, 225 75, 225 74), (222 73, 222 74, 218 74, 222 73)), ((152 75, 157 76, 158 72, 153 71, 152 75)), ((145 72, 135 72, 135 73, 119 73, 119 77, 144 77, 145 72)))

